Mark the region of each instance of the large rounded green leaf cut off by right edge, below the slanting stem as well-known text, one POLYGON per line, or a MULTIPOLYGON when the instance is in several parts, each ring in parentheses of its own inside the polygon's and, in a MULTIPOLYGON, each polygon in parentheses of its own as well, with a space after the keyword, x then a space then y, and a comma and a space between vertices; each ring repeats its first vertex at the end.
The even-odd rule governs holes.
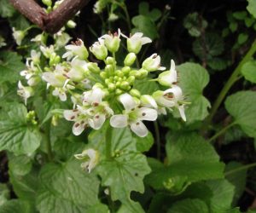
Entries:
POLYGON ((248 136, 256 137, 256 92, 241 91, 225 101, 227 111, 248 136))

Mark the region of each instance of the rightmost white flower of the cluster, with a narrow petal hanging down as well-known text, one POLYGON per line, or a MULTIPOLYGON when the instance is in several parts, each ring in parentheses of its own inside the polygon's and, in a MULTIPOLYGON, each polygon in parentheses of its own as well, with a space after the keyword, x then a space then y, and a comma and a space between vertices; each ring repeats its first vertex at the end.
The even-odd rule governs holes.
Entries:
POLYGON ((160 107, 177 107, 181 118, 186 121, 186 116, 184 112, 184 105, 180 104, 183 101, 182 89, 177 85, 174 85, 171 89, 166 89, 165 91, 156 91, 153 94, 155 101, 160 107))

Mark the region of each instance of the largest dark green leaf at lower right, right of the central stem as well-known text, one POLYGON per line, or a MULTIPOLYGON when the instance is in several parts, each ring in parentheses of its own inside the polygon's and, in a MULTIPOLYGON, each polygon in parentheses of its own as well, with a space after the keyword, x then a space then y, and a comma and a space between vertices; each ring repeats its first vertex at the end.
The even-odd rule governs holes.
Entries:
POLYGON ((147 182, 156 189, 182 193, 192 182, 223 177, 224 164, 212 145, 191 133, 173 135, 166 143, 168 166, 154 170, 147 182))

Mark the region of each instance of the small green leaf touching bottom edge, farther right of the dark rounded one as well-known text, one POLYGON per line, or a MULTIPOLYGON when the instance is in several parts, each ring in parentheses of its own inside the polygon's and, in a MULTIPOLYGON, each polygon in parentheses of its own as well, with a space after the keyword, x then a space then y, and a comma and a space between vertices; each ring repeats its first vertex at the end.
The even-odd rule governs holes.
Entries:
POLYGON ((235 187, 229 181, 224 179, 207 181, 207 186, 212 190, 212 198, 210 200, 211 213, 230 210, 235 187))

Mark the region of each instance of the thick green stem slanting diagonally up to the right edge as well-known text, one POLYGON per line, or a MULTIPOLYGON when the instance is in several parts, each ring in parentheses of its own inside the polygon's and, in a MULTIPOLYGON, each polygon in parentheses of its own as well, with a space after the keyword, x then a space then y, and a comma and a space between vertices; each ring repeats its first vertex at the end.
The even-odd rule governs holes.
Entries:
POLYGON ((232 73, 232 75, 228 79, 227 83, 225 83, 224 88, 221 90, 221 92, 219 93, 216 101, 213 103, 210 115, 208 116, 208 118, 206 119, 206 122, 204 124, 204 127, 203 127, 204 130, 207 130, 208 125, 212 123, 212 118, 214 117, 215 113, 217 112, 218 107, 220 106, 222 101, 224 101, 224 98, 227 95, 227 93, 229 92, 229 90, 232 87, 232 85, 234 83, 236 83, 236 81, 239 79, 239 74, 241 72, 241 67, 248 60, 251 59, 251 57, 253 56, 255 51, 256 51, 256 39, 254 40, 251 48, 248 50, 247 55, 245 55, 243 57, 243 59, 240 61, 239 65, 236 66, 235 71, 232 73))

